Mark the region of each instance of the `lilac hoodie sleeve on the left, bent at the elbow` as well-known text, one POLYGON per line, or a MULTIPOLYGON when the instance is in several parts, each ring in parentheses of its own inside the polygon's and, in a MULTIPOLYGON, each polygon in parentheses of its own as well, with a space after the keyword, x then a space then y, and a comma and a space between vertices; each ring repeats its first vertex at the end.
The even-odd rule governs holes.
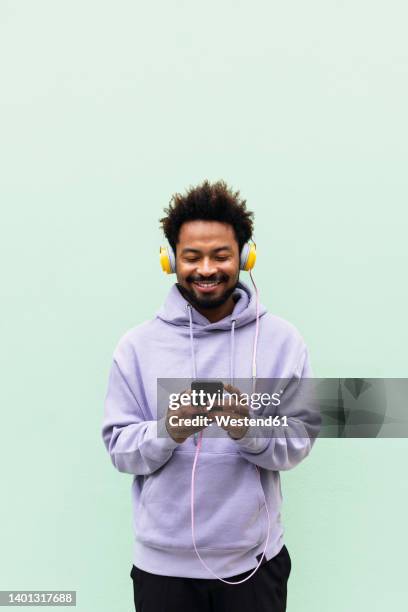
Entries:
POLYGON ((105 397, 102 438, 119 472, 151 474, 164 465, 178 445, 160 421, 145 420, 134 392, 114 359, 105 397), (157 428, 167 434, 158 437, 157 428))

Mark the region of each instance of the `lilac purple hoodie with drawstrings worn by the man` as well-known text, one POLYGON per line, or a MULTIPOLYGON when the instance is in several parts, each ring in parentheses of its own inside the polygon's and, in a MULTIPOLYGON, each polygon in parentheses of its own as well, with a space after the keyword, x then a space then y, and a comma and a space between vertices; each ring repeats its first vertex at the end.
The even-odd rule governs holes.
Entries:
MULTIPOLYGON (((133 474, 133 563, 146 572, 213 577, 198 559, 191 535, 196 443, 193 436, 181 444, 157 436, 157 379, 251 378, 255 293, 239 282, 234 299, 232 314, 210 323, 174 284, 155 318, 126 332, 113 353, 102 436, 113 465, 133 474)), ((256 362, 258 378, 313 376, 299 332, 262 304, 256 362)), ((314 441, 304 411, 302 422, 296 417, 288 421, 306 437, 202 439, 195 539, 201 557, 221 578, 258 564, 267 535, 265 499, 270 520, 266 559, 283 546, 279 470, 296 466, 314 441)))

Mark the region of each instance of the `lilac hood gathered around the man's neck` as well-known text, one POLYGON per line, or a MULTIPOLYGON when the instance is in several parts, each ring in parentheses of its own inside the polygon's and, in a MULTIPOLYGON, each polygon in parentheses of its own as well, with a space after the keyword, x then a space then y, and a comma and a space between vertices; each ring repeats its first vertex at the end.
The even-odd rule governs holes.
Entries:
MULTIPOLYGON (((220 321, 211 323, 183 297, 177 285, 174 284, 162 308, 156 313, 156 316, 165 323, 186 328, 190 327, 191 318, 194 324, 194 335, 197 337, 213 330, 230 330, 233 321, 235 321, 235 328, 243 327, 255 321, 256 295, 250 290, 248 285, 238 281, 238 285, 232 296, 235 300, 233 312, 223 319, 220 319, 220 321)), ((266 312, 265 306, 259 304, 259 317, 262 317, 266 312)))

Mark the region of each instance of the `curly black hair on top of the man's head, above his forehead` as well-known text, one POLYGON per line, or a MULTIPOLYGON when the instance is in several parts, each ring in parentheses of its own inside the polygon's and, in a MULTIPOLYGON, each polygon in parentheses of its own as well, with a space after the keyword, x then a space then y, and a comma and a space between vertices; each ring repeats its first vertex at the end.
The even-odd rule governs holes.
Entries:
POLYGON ((205 180, 190 187, 184 195, 175 193, 168 208, 164 209, 167 216, 160 219, 160 226, 173 251, 176 252, 182 224, 200 219, 232 225, 241 252, 245 242, 252 237, 254 213, 246 209, 246 200, 239 196, 239 191, 232 191, 222 180, 215 183, 205 180))

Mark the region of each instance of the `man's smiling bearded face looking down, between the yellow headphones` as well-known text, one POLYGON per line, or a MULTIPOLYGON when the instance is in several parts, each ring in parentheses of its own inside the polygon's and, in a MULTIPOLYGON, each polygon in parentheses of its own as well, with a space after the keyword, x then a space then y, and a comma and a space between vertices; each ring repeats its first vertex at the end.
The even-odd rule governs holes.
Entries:
POLYGON ((239 280, 239 251, 234 229, 219 221, 183 223, 176 245, 180 290, 199 308, 217 308, 239 280))

